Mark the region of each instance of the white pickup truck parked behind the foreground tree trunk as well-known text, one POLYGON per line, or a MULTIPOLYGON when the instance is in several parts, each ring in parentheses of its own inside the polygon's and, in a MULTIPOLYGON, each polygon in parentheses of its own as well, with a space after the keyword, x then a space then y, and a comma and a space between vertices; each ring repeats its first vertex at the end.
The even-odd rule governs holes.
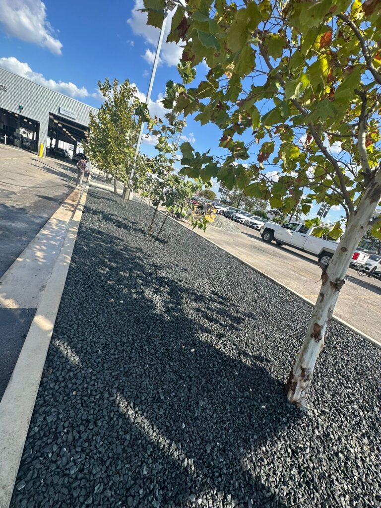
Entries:
MULTIPOLYGON (((283 224, 282 226, 273 222, 268 222, 262 226, 260 233, 264 242, 271 243, 275 240, 277 245, 290 245, 290 247, 304 250, 305 252, 317 256, 319 263, 328 266, 338 247, 338 243, 312 236, 314 229, 315 228, 307 228, 304 224, 298 222, 283 224)), ((365 263, 368 257, 369 256, 363 252, 359 252, 359 256, 356 258, 356 264, 365 263), (364 257, 364 260, 360 259, 360 257, 364 257)))

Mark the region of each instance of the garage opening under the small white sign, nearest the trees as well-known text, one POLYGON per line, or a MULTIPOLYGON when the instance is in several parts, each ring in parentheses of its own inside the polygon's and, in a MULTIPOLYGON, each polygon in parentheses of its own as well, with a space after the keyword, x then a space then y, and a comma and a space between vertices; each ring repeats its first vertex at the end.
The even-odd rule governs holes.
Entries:
POLYGON ((85 156, 81 142, 86 138, 87 130, 86 125, 49 113, 46 155, 76 164, 85 156))

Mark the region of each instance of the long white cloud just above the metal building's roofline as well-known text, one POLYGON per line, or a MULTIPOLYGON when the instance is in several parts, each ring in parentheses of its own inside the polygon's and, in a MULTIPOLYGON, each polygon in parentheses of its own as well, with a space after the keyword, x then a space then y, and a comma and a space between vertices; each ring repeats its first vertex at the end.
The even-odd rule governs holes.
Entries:
POLYGON ((34 81, 39 85, 46 86, 51 90, 64 93, 69 97, 78 97, 80 99, 85 97, 94 97, 96 99, 100 99, 99 92, 90 93, 84 86, 79 88, 71 81, 65 82, 46 79, 39 72, 34 72, 31 70, 28 63, 20 62, 20 60, 14 56, 0 58, 0 67, 6 69, 7 71, 13 72, 14 74, 22 76, 23 78, 30 79, 30 81, 34 81))

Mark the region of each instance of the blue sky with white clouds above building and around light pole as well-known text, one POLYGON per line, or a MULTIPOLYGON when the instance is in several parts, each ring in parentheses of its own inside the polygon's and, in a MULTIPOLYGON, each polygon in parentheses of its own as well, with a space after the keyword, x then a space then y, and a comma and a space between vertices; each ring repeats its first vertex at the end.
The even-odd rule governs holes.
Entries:
MULTIPOLYGON (((137 10, 142 6, 142 0, 0 0, 0 67, 94 107, 101 104, 97 82, 105 77, 129 79, 144 100, 159 30, 146 25, 146 15, 137 10)), ((152 113, 164 112, 160 99, 166 82, 179 81, 180 55, 174 43, 163 46, 149 105, 152 113)), ((198 78, 206 70, 201 64, 198 78)), ((221 153, 217 128, 192 119, 187 123, 184 140, 200 152, 221 153)), ((142 151, 155 153, 149 140, 142 151)), ((318 209, 315 205, 309 217, 318 209)), ((332 210, 327 219, 342 214, 332 210)))

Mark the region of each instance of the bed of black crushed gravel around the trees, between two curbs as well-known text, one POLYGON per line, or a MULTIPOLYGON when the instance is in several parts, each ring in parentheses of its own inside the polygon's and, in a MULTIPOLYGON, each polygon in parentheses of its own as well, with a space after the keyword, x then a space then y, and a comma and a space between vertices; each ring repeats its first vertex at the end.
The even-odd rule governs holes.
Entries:
POLYGON ((381 351, 332 323, 294 408, 311 308, 119 202, 87 198, 11 506, 380 506, 381 351))

